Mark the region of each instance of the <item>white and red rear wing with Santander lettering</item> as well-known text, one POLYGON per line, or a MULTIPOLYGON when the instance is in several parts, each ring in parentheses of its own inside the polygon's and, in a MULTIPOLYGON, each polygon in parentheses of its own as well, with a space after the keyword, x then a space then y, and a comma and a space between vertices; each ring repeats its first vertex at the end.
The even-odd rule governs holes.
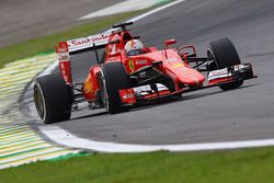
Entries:
MULTIPOLYGON (((60 73, 67 84, 72 85, 70 55, 80 54, 88 50, 104 48, 115 30, 109 30, 102 34, 90 35, 88 37, 76 38, 67 42, 59 42, 55 46, 60 73)), ((96 54, 98 57, 98 54, 96 54)))

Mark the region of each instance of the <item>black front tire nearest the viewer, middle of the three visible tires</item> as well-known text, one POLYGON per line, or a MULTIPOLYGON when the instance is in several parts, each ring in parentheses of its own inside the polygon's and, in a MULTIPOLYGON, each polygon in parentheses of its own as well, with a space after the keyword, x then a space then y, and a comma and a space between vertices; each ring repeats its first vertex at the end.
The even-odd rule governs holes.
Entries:
POLYGON ((128 111, 122 106, 118 90, 132 88, 132 81, 122 62, 114 61, 101 66, 99 76, 102 103, 111 114, 128 111))

